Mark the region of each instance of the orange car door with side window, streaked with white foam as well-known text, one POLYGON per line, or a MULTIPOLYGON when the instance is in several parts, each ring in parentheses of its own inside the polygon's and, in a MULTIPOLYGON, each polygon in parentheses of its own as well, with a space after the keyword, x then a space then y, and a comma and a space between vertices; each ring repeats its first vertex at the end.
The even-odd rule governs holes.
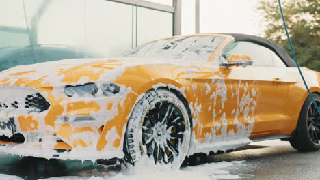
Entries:
POLYGON ((198 149, 226 150, 230 145, 248 143, 250 136, 291 133, 285 128, 291 116, 283 107, 290 102, 296 79, 289 68, 274 63, 268 48, 232 42, 215 61, 196 64, 179 79, 191 92, 187 101, 198 149), (247 67, 219 66, 230 55, 250 55, 254 63, 247 67))

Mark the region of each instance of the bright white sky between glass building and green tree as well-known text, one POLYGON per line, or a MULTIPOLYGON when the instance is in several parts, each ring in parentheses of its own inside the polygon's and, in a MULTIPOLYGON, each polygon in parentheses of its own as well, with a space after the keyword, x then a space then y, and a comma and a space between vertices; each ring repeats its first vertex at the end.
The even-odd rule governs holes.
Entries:
MULTIPOLYGON (((158 0, 163 1, 163 0, 158 0)), ((182 33, 195 33, 195 1, 183 1, 182 33)), ((262 18, 256 0, 200 0, 200 33, 246 33, 261 35, 262 18)))

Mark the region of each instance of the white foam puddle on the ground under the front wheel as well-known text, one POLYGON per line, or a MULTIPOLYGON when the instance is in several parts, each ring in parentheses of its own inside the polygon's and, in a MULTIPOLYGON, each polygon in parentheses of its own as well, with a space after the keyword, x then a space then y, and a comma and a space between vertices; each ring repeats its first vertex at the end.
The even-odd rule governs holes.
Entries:
MULTIPOLYGON (((229 169, 232 166, 243 164, 239 162, 217 162, 189 166, 181 169, 172 169, 168 166, 155 166, 148 158, 144 157, 136 163, 116 175, 102 175, 96 177, 53 177, 46 180, 215 180, 215 179, 239 179, 239 175, 232 175, 229 169)), ((43 180, 43 179, 42 179, 43 180)))

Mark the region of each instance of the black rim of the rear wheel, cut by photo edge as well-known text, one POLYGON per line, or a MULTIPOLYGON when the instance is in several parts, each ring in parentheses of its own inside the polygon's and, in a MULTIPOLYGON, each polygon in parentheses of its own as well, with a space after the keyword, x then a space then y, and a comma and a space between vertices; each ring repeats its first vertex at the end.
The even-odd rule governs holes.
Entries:
MULTIPOLYGON (((317 105, 320 106, 320 102, 316 100, 317 105)), ((315 104, 310 104, 308 109, 307 127, 310 139, 315 144, 320 144, 320 115, 317 111, 315 104)))

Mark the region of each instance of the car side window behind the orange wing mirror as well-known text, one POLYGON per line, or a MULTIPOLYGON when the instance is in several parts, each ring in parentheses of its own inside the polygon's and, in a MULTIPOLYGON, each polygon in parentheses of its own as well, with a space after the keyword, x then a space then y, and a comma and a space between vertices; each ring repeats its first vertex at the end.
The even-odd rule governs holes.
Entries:
POLYGON ((222 57, 228 59, 231 55, 250 55, 253 66, 274 67, 268 48, 251 42, 233 42, 223 51, 222 57))

